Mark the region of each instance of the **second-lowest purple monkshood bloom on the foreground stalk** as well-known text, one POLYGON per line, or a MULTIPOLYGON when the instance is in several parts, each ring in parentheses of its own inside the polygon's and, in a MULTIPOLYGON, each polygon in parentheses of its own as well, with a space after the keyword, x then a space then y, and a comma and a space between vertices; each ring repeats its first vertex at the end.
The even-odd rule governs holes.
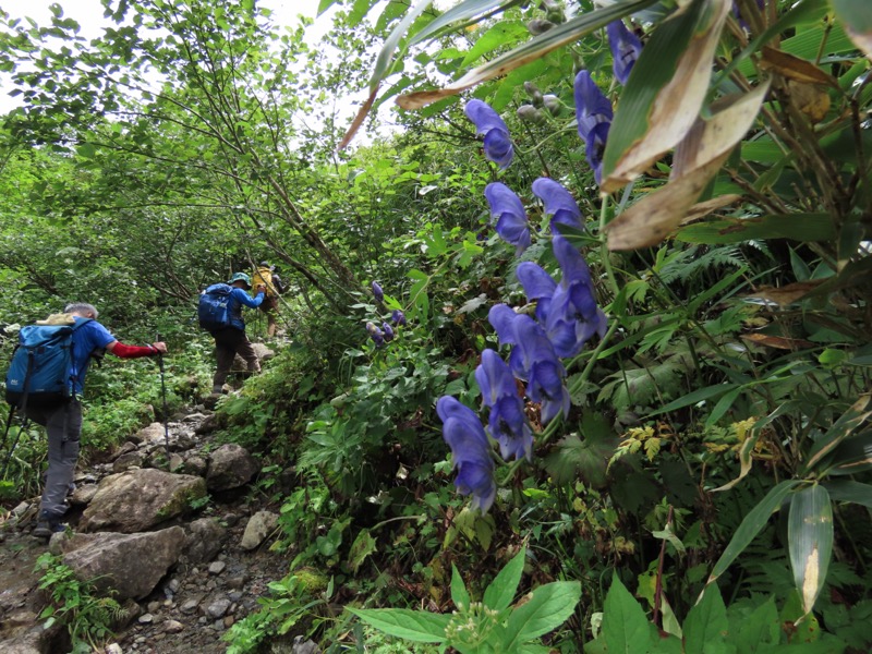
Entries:
POLYGON ((488 428, 491 436, 499 443, 499 453, 504 459, 513 456, 530 460, 533 432, 509 366, 494 350, 485 350, 482 363, 475 368, 475 380, 482 389, 484 404, 491 409, 488 428))

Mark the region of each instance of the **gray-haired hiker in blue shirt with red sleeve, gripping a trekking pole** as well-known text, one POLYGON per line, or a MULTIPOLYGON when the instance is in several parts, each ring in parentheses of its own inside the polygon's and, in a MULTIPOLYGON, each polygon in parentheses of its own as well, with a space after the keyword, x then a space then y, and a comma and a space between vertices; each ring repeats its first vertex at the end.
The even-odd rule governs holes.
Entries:
POLYGON ((80 397, 85 390, 85 375, 90 358, 104 350, 121 359, 156 356, 167 352, 167 344, 155 342, 143 348, 125 346, 97 322, 97 310, 92 304, 68 304, 63 310, 73 316, 76 325, 73 332, 72 365, 73 397, 66 400, 27 402, 25 413, 48 433, 48 473, 43 491, 39 517, 33 531, 35 536, 48 537, 63 531, 61 518, 66 512, 66 491, 75 475, 78 460, 78 438, 82 434, 82 404, 80 397), (82 324, 84 323, 84 324, 82 324))

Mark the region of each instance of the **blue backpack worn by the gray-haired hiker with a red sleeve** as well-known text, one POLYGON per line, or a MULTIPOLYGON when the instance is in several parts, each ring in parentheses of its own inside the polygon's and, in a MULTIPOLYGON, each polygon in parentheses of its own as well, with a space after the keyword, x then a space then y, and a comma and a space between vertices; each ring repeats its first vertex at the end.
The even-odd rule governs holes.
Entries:
POLYGON ((73 335, 89 323, 27 325, 19 332, 19 346, 7 372, 7 401, 23 410, 28 399, 57 401, 73 396, 73 335))

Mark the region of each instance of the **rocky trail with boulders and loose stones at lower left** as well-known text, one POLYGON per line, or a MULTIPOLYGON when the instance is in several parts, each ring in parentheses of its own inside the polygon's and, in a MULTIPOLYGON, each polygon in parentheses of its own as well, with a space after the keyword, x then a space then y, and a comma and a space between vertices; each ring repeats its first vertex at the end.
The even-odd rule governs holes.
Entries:
MULTIPOLYGON (((31 535, 38 497, 0 517, 0 652, 70 651, 66 630, 45 629, 38 619, 47 595, 34 566, 47 549, 122 603, 126 615, 106 652, 227 651, 221 637, 256 610, 267 584, 288 572, 288 558, 269 552, 278 514, 253 492, 259 464, 239 446, 219 447, 214 423, 203 405, 174 416, 171 473, 159 423, 131 436, 110 461, 81 472, 65 517, 71 529, 48 545, 31 535)), ((292 487, 292 477, 280 484, 292 487)), ((301 640, 274 651, 316 652, 301 640)))

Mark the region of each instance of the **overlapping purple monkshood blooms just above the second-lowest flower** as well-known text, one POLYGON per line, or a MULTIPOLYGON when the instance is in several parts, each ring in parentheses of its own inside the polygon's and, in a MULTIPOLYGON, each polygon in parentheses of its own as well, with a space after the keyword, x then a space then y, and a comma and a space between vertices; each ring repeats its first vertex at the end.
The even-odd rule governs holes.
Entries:
POLYGON ((497 331, 500 343, 513 344, 509 366, 516 377, 526 379, 526 393, 542 402, 542 422, 550 422, 559 413, 569 412, 569 392, 564 385, 566 370, 542 326, 533 318, 516 314, 505 304, 491 308, 487 319, 497 331))

